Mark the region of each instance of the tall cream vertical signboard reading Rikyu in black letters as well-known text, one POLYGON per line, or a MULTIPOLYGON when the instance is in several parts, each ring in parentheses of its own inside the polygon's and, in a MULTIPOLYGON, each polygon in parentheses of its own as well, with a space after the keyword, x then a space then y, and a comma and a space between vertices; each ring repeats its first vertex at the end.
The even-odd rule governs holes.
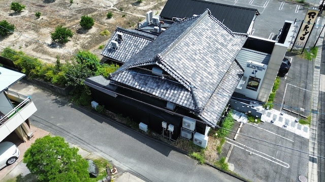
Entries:
POLYGON ((314 27, 319 10, 308 9, 304 21, 301 23, 298 36, 296 38, 295 47, 305 48, 306 42, 314 27))

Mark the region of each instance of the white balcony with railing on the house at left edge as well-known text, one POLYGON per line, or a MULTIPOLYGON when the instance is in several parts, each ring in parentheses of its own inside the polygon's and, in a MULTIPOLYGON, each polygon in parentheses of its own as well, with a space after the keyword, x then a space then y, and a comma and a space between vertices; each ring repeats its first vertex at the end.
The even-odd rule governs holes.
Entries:
MULTIPOLYGON (((6 91, 0 93, 0 142, 37 111, 29 97, 6 91), (11 106, 11 107, 8 107, 11 106), (9 108, 9 109, 8 109, 9 108), (12 108, 12 109, 10 109, 12 108)), ((26 125, 22 130, 26 132, 26 125)), ((21 131, 22 131, 21 130, 21 131)), ((27 129, 28 130, 28 129, 27 129)), ((26 133, 28 135, 28 133, 26 133)))

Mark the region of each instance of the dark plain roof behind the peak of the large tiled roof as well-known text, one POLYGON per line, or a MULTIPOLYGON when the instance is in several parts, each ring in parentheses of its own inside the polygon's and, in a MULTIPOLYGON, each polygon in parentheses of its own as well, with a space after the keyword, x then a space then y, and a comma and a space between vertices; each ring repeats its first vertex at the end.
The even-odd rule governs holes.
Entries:
POLYGON ((160 17, 166 19, 190 18, 193 14, 199 15, 205 9, 209 8, 216 19, 234 32, 247 33, 255 15, 258 15, 256 9, 223 5, 200 0, 168 0, 160 17))

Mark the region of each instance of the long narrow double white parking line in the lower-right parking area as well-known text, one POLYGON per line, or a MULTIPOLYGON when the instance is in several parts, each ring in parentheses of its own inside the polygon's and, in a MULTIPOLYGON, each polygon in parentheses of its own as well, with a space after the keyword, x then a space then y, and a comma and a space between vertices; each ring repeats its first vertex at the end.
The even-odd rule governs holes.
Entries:
POLYGON ((285 162, 283 162, 283 161, 281 161, 281 160, 279 160, 279 159, 277 159, 277 158, 274 158, 274 157, 272 157, 272 156, 270 156, 270 155, 268 155, 268 154, 265 154, 265 153, 263 153, 263 152, 259 152, 259 151, 257 151, 257 150, 255 150, 255 149, 252 149, 252 148, 250 148, 250 147, 248 147, 248 146, 245 146, 245 145, 243 145, 243 144, 241 144, 241 143, 239 143, 239 142, 236 142, 236 141, 233 141, 233 140, 231 140, 231 139, 229 139, 229 138, 226 138, 228 141, 226 141, 228 144, 231 144, 231 145, 234 145, 234 146, 236 146, 236 147, 238 147, 238 148, 240 148, 240 149, 243 149, 243 150, 245 150, 245 151, 247 151, 247 152, 251 152, 252 154, 254 154, 254 155, 256 155, 256 156, 259 156, 259 157, 262 157, 263 159, 266 159, 266 160, 268 160, 268 161, 271 161, 271 162, 273 162, 273 163, 276 163, 276 164, 278 164, 278 165, 280 165, 280 166, 283 166, 283 167, 285 167, 285 168, 289 168, 290 167, 290 165, 288 164, 288 163, 285 163, 285 162), (229 141, 232 141, 232 142, 229 142, 229 141), (238 144, 238 145, 236 145, 236 144, 234 144, 234 143, 236 143, 236 144, 238 144), (241 146, 239 146, 239 145, 241 145, 241 146, 243 146, 243 147, 241 147, 241 146), (249 150, 247 150, 247 149, 245 149, 245 148, 247 148, 247 149, 249 149, 249 150), (252 151, 254 151, 254 152, 252 152, 252 151), (255 153, 256 152, 256 153, 255 153), (260 154, 257 154, 257 153, 260 153, 260 154), (262 155, 261 155, 262 154, 262 155), (267 157, 264 157, 264 156, 267 156, 267 157))

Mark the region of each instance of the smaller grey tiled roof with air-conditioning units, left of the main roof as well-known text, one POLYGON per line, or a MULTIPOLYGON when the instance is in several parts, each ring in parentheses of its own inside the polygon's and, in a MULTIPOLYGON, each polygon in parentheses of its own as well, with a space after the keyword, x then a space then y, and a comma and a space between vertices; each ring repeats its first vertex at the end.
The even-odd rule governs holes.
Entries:
POLYGON ((101 55, 124 63, 130 57, 139 53, 139 51, 155 38, 155 35, 149 33, 117 27, 101 55), (112 49, 111 41, 117 41, 117 32, 123 33, 124 38, 122 41, 118 41, 119 47, 117 50, 114 50, 112 49))

